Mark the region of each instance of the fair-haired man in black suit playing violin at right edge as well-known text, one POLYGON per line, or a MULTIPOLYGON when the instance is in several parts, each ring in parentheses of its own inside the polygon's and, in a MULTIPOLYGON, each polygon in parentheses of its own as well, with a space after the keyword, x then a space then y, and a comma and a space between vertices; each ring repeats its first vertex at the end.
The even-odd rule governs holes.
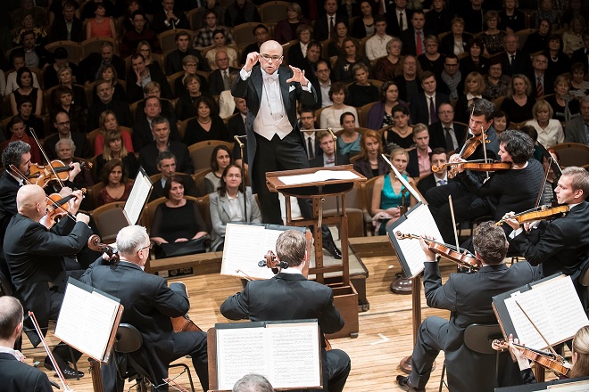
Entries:
MULTIPOLYGON (((568 214, 539 225, 519 225, 515 219, 508 219, 514 230, 510 245, 531 265, 542 265, 543 276, 561 272, 580 290, 579 274, 589 254, 585 235, 589 230, 589 173, 583 167, 566 167, 554 192, 559 204, 570 208, 568 214)), ((511 211, 505 217, 514 212, 521 211, 511 211)))

